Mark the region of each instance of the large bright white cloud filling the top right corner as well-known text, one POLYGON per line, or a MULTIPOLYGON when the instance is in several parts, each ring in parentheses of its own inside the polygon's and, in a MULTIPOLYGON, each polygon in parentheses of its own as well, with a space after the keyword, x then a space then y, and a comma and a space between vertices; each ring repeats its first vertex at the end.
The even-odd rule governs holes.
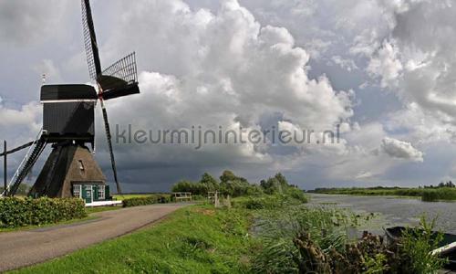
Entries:
POLYGON ((448 1, 399 3, 389 6, 393 24, 389 35, 381 38, 382 46, 370 56, 368 72, 404 103, 416 103, 430 115, 454 123, 456 57, 444 45, 456 42, 456 6, 448 1))

